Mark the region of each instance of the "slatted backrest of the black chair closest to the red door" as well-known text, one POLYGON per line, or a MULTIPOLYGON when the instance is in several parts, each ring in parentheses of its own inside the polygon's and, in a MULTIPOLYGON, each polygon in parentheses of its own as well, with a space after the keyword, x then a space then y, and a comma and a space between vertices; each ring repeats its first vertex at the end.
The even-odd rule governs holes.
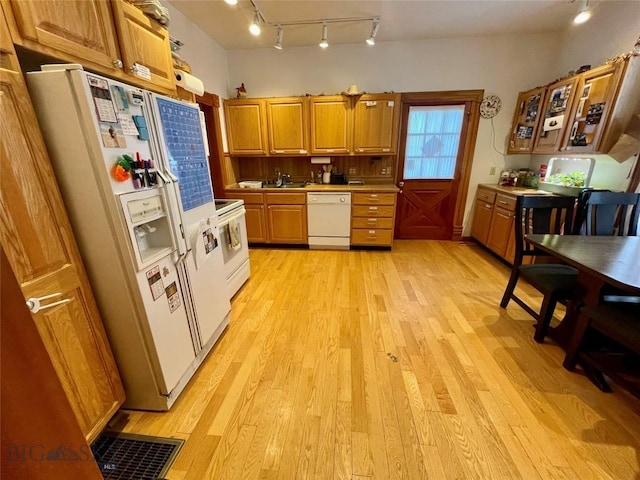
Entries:
POLYGON ((574 197, 519 196, 516 200, 514 266, 527 256, 544 255, 524 240, 529 234, 570 234, 574 197))

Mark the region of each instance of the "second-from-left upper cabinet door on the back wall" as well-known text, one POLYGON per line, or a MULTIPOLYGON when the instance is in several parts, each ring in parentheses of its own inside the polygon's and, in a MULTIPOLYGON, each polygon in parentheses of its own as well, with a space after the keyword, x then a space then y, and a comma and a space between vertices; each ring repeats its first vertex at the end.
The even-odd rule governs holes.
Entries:
POLYGON ((268 98, 266 107, 269 153, 306 155, 309 150, 307 98, 268 98))

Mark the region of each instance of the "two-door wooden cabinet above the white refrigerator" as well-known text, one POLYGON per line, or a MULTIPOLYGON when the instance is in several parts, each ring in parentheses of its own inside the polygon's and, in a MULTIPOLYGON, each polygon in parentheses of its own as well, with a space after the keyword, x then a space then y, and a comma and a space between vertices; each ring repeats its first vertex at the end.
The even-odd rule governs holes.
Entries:
POLYGON ((167 29, 124 0, 1 1, 14 43, 175 94, 167 29))

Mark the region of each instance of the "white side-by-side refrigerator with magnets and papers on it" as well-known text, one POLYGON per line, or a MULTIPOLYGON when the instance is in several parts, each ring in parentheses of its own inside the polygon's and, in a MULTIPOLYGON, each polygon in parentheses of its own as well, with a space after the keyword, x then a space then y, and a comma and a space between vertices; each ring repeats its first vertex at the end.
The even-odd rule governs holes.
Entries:
POLYGON ((197 106, 43 66, 30 95, 126 391, 168 410, 229 323, 197 106))

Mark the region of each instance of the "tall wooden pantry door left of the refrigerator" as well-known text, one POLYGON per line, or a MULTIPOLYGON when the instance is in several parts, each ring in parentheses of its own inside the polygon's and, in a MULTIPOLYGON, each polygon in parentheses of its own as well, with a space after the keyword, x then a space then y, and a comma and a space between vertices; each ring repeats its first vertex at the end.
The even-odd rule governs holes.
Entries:
POLYGON ((124 390, 22 74, 0 70, 0 89, 0 240, 24 299, 55 293, 50 302, 65 302, 32 319, 92 440, 124 390))

